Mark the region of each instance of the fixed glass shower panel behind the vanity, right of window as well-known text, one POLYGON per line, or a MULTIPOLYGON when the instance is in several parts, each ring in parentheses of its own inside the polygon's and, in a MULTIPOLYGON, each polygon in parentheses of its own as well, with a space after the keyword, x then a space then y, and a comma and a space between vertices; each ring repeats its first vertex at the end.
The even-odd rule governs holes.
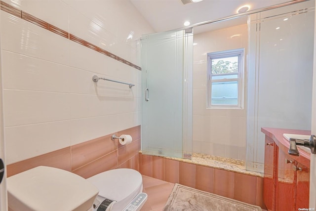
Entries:
POLYGON ((250 16, 248 170, 263 172, 261 127, 311 129, 314 1, 250 16))

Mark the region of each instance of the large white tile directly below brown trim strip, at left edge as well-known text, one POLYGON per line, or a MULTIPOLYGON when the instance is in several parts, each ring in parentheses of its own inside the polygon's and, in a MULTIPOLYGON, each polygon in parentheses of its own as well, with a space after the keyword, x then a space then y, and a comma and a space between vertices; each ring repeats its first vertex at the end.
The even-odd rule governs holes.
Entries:
POLYGON ((2 49, 68 65, 68 39, 2 10, 1 28, 2 49))

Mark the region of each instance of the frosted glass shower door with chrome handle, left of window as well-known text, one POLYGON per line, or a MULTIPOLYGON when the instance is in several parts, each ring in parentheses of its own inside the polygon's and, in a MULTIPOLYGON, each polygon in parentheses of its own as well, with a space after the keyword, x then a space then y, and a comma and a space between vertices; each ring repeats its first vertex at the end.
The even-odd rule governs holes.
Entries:
POLYGON ((193 33, 142 36, 142 153, 192 154, 193 33))

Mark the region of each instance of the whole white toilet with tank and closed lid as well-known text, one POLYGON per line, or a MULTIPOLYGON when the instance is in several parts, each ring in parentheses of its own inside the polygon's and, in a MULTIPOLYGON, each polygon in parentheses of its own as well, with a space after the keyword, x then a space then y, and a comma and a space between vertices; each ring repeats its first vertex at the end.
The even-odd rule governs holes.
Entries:
POLYGON ((9 211, 139 211, 147 200, 142 175, 113 169, 84 179, 36 167, 7 178, 9 211))

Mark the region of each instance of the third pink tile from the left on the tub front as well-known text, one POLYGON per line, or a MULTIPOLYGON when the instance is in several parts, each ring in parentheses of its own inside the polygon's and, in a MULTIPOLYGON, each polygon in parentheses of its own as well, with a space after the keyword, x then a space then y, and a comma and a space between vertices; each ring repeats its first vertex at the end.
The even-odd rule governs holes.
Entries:
POLYGON ((164 158, 164 180, 179 183, 180 162, 164 158))

